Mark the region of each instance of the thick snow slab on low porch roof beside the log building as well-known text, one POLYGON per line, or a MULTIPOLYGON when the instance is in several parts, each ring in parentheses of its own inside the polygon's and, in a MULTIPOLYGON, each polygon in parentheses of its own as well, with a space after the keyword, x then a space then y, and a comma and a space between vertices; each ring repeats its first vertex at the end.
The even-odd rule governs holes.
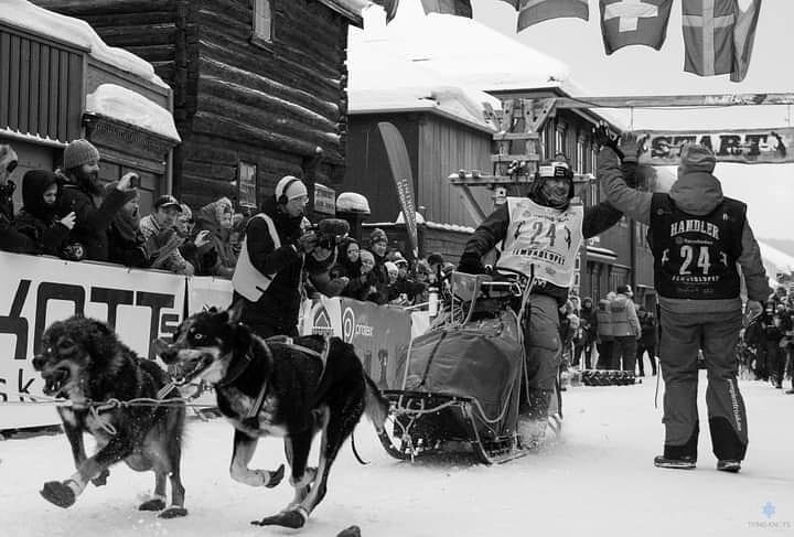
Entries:
POLYGON ((142 95, 116 84, 103 84, 93 94, 88 94, 86 112, 118 119, 181 141, 170 111, 142 95))

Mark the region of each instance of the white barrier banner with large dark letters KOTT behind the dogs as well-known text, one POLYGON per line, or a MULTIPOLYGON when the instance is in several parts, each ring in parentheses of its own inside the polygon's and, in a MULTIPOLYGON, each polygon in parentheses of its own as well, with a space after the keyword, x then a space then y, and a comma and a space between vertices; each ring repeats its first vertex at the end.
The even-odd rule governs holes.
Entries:
POLYGON ((93 262, 0 253, 0 429, 58 423, 53 407, 4 406, 42 395, 33 369, 44 330, 75 313, 107 322, 140 356, 182 320, 185 278, 93 262))

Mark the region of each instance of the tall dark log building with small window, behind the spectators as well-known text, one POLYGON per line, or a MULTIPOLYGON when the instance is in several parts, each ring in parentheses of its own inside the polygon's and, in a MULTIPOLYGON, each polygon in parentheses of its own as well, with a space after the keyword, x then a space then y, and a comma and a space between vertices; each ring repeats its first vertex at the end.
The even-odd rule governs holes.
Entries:
POLYGON ((174 193, 255 205, 293 174, 345 167, 347 26, 365 0, 36 0, 87 21, 173 88, 174 193), (322 154, 322 159, 318 157, 322 154))

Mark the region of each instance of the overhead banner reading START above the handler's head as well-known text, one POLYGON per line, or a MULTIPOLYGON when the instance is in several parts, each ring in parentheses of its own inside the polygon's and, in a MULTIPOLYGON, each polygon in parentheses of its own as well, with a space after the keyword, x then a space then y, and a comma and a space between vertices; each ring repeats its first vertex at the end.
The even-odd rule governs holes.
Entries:
POLYGON ((678 165, 686 143, 710 148, 717 162, 738 164, 781 164, 794 162, 794 128, 725 130, 640 130, 647 137, 640 162, 678 165))

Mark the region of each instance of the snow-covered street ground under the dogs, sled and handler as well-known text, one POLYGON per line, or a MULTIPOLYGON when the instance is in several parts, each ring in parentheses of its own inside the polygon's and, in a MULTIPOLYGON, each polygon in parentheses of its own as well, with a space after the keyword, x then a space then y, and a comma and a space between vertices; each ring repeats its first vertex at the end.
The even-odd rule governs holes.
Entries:
MULTIPOLYGON (((72 508, 55 507, 37 491, 45 481, 72 473, 66 439, 2 441, 0 535, 331 537, 351 525, 360 526, 365 537, 794 533, 794 396, 765 383, 741 384, 751 444, 740 474, 715 470, 702 429, 697 470, 661 470, 652 463, 663 439, 654 379, 569 389, 564 438, 491 468, 393 460, 369 423, 362 423, 356 444, 371 464, 360 465, 346 444, 326 500, 300 531, 249 525, 286 505, 291 487, 287 480, 275 490, 232 481, 232 428, 222 419, 187 426, 183 476, 190 515, 183 519, 161 520, 136 511, 153 476, 126 465, 111 470, 107 486, 89 485, 72 508)), ((701 418, 704 385, 705 376, 701 418)), ((262 440, 253 466, 276 468, 282 453, 279 440, 262 440)))

